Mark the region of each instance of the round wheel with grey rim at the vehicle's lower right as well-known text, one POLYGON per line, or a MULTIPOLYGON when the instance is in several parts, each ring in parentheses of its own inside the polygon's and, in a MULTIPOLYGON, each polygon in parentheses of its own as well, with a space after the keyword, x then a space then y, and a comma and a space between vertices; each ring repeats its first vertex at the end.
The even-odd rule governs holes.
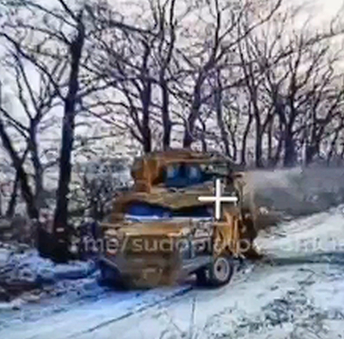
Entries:
POLYGON ((229 282, 232 278, 234 265, 227 256, 219 256, 214 259, 210 270, 209 282, 212 286, 222 286, 229 282))

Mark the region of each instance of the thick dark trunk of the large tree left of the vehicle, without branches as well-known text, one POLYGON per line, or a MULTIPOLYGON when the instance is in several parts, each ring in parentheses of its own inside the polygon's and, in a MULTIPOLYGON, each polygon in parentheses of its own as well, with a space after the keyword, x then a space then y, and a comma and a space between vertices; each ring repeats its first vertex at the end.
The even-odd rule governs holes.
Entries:
MULTIPOLYGON (((81 19, 81 14, 80 18, 81 19)), ((57 202, 54 216, 54 238, 56 239, 52 257, 56 262, 64 262, 68 259, 69 229, 68 217, 68 193, 71 181, 71 154, 74 141, 75 104, 78 92, 79 64, 84 45, 85 31, 81 21, 78 22, 76 38, 70 46, 71 71, 69 74, 68 94, 64 104, 64 121, 62 125, 62 147, 60 155, 60 177, 58 179, 57 202)))

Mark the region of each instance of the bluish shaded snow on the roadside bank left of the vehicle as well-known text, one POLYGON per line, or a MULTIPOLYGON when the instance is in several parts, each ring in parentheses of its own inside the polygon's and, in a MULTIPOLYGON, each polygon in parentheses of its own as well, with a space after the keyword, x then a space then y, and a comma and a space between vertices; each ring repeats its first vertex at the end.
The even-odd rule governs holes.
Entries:
MULTIPOLYGON (((96 275, 92 261, 54 264, 25 245, 0 243, 0 327, 9 318, 3 314, 5 311, 23 309, 27 303, 39 304, 36 308, 42 313, 44 304, 52 304, 53 298, 58 297, 58 307, 52 313, 72 300, 99 295, 103 290, 96 284, 96 275)), ((20 317, 34 318, 31 308, 26 308, 30 312, 20 317)), ((10 318, 18 315, 18 312, 10 314, 10 318)))

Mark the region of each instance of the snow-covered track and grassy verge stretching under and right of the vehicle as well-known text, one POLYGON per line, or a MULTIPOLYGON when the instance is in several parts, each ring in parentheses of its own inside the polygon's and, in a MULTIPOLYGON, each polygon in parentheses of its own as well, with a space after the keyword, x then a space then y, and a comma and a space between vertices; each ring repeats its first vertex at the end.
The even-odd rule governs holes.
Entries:
POLYGON ((344 338, 343 206, 261 231, 257 244, 266 260, 219 289, 102 291, 34 320, 9 318, 0 338, 344 338))

